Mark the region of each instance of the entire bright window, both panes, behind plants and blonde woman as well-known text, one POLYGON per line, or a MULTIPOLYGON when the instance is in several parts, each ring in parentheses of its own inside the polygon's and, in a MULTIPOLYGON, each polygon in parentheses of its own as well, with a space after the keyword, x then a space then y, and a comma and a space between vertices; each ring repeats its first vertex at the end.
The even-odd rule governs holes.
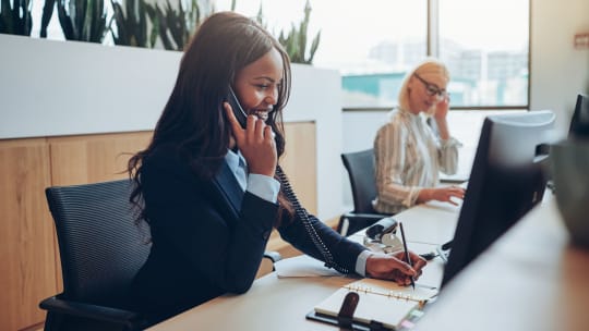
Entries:
MULTIPOLYGON (((305 2, 263 1, 268 29, 301 22, 305 2)), ((237 1, 236 10, 253 16, 260 3, 237 1)), ((426 56, 448 65, 453 107, 528 107, 529 0, 311 0, 311 8, 309 38, 321 30, 313 64, 340 71, 345 108, 395 106, 405 73, 426 56)))

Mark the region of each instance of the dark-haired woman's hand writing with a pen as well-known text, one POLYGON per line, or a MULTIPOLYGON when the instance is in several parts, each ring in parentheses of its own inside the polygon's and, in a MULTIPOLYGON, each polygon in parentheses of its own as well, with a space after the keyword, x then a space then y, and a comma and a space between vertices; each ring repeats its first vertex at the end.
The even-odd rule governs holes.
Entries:
POLYGON ((371 278, 392 280, 399 285, 407 286, 411 283, 411 277, 417 280, 423 267, 428 263, 421 256, 409 252, 411 266, 404 262, 405 253, 394 255, 374 254, 366 259, 366 275, 371 278))

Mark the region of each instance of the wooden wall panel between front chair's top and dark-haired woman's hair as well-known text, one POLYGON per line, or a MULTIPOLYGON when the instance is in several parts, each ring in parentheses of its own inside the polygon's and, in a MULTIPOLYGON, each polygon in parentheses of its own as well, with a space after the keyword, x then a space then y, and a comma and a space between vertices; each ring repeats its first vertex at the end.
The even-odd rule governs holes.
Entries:
POLYGON ((152 132, 48 138, 53 185, 124 179, 132 154, 147 147, 152 132))

